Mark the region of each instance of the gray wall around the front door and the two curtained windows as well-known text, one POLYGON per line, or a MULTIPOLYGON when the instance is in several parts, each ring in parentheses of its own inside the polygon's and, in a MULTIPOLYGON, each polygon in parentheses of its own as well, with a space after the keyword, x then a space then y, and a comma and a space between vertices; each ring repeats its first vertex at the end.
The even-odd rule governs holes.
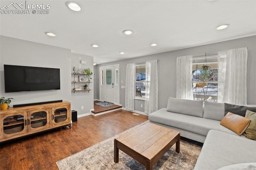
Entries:
MULTIPOLYGON (((184 40, 186 41, 186 40, 184 40)), ((186 49, 180 49, 176 51, 169 51, 165 53, 158 53, 154 55, 148 55, 143 57, 137 57, 132 59, 126 59, 122 61, 116 61, 111 63, 104 63, 96 65, 94 68, 96 72, 97 80, 99 80, 99 67, 106 65, 120 64, 120 83, 125 85, 126 77, 126 64, 128 63, 140 63, 158 59, 158 109, 167 107, 167 100, 171 97, 176 97, 176 57, 184 55, 197 55, 202 53, 218 52, 226 49, 234 49, 240 47, 248 47, 248 63, 247 63, 247 103, 256 104, 256 36, 250 36, 246 38, 240 38, 236 40, 230 40, 219 43, 212 43, 208 45, 201 45, 197 47, 191 47, 186 49)), ((99 83, 95 83, 94 89, 97 89, 96 98, 99 99, 99 83)), ((144 112, 140 104, 143 101, 134 100, 134 110, 144 112)), ((120 104, 125 107, 125 89, 120 88, 120 104)))

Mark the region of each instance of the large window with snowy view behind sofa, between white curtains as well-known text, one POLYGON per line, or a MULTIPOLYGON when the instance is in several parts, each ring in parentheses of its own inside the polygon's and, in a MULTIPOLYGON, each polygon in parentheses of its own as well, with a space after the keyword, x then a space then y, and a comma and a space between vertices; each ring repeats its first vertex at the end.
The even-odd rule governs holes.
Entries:
POLYGON ((218 62, 216 60, 202 63, 193 60, 192 83, 194 100, 218 101, 218 62))

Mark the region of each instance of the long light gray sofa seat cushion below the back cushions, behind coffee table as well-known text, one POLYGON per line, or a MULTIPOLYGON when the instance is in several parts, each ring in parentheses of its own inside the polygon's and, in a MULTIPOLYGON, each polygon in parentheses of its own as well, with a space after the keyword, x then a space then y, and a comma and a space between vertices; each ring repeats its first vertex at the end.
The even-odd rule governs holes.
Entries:
POLYGON ((166 111, 165 108, 159 109, 158 111, 151 113, 148 116, 148 119, 155 123, 180 128, 182 130, 187 130, 189 132, 193 132, 203 136, 206 136, 208 131, 211 129, 220 130, 222 132, 238 136, 238 134, 236 134, 232 130, 220 125, 220 121, 204 119, 202 117, 195 117, 190 115, 183 115, 179 113, 172 113, 166 111))

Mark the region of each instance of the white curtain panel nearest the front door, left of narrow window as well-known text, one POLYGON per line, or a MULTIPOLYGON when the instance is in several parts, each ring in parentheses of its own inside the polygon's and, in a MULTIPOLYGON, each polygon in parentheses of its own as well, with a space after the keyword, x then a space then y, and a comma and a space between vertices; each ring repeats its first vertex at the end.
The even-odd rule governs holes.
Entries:
POLYGON ((127 110, 134 110, 134 81, 135 81, 135 64, 126 65, 125 80, 125 107, 127 110))

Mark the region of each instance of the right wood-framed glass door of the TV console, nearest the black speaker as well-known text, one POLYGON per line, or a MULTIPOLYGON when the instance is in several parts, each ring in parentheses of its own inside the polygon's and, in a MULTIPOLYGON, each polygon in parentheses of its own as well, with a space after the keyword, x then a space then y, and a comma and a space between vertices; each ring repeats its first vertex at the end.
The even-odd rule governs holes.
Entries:
POLYGON ((68 106, 52 108, 52 126, 69 123, 69 108, 68 106))

